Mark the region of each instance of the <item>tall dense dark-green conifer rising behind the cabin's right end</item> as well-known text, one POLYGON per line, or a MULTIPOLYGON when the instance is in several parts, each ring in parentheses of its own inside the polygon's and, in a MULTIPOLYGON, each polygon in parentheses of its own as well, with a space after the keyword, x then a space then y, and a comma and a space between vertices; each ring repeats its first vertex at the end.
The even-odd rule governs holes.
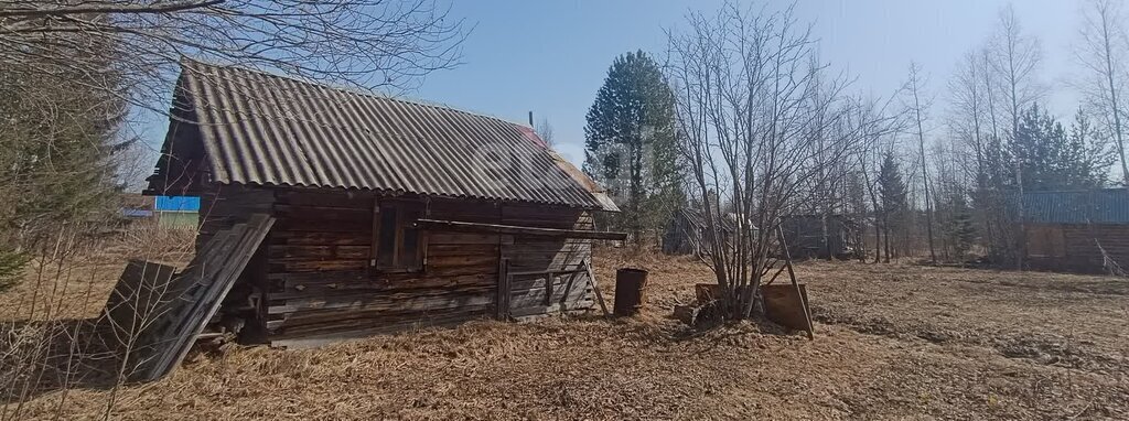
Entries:
POLYGON ((681 205, 674 95, 658 64, 644 52, 616 58, 585 126, 585 172, 607 187, 623 210, 611 222, 636 240, 681 205))

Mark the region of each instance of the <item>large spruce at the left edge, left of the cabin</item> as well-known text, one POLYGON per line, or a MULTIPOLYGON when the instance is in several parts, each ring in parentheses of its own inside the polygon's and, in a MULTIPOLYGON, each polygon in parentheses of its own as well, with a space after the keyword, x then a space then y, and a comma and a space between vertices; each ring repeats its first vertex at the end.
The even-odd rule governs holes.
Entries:
MULTIPOLYGON (((113 69, 112 51, 85 54, 113 69)), ((0 63, 0 290, 21 279, 36 247, 52 247, 59 230, 97 230, 91 221, 116 211, 114 155, 130 144, 117 132, 125 99, 96 88, 119 84, 115 72, 27 65, 45 74, 24 78, 23 67, 0 63)))

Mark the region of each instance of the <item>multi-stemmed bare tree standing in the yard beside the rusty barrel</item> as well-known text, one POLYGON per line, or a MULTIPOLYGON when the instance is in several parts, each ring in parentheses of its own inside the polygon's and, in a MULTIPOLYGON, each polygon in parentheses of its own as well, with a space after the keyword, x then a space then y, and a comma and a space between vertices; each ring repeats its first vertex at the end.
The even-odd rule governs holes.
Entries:
POLYGON ((729 2, 688 20, 684 32, 668 32, 668 79, 683 158, 702 198, 703 260, 720 287, 721 313, 739 319, 754 312, 780 218, 814 199, 802 186, 821 184, 828 166, 858 154, 866 137, 848 119, 846 78, 829 77, 813 60, 811 27, 791 8, 729 2), (711 192, 728 199, 732 214, 711 192))

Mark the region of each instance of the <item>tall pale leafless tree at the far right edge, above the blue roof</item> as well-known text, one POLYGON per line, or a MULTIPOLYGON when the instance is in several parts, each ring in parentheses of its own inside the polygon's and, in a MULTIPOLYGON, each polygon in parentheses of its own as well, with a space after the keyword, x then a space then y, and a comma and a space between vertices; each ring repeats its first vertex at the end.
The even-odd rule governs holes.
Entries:
POLYGON ((1088 71, 1079 84, 1091 111, 1113 137, 1121 160, 1123 183, 1129 186, 1122 119, 1127 108, 1124 90, 1129 82, 1129 34, 1120 1, 1089 0, 1083 9, 1082 43, 1075 55, 1088 71))

